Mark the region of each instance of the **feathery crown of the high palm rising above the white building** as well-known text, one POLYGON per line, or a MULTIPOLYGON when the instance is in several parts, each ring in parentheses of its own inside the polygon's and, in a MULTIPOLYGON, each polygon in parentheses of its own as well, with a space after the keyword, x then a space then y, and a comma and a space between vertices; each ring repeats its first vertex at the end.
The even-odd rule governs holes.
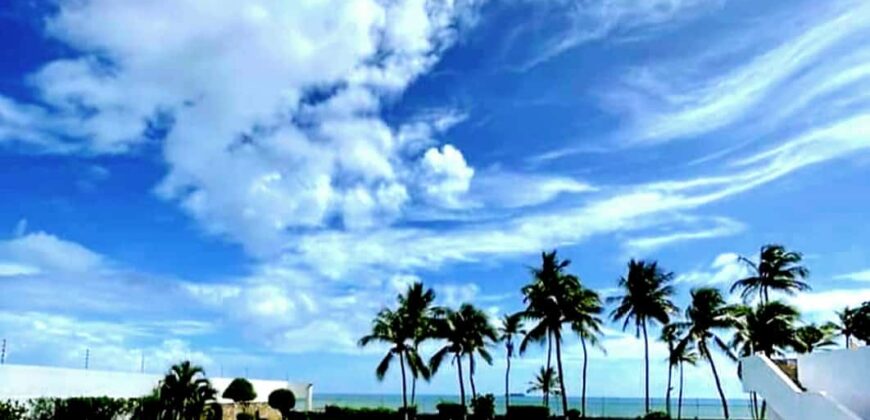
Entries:
POLYGON ((768 303, 770 290, 787 294, 810 290, 810 286, 803 281, 810 272, 800 265, 802 259, 801 253, 788 251, 782 245, 765 245, 761 247, 757 264, 749 258, 740 257, 740 261, 749 267, 752 275, 736 281, 731 286, 731 292, 743 289, 740 296, 744 300, 757 293, 761 303, 768 303))

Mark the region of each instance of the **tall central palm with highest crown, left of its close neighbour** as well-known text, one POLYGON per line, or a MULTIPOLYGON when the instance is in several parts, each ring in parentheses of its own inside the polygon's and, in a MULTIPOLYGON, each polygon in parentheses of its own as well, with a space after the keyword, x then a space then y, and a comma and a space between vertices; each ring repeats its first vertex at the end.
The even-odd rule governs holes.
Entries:
MULTIPOLYGON (((548 343, 547 367, 551 367, 551 354, 555 343, 562 413, 568 415, 568 397, 565 395, 565 375, 562 367, 562 324, 568 322, 566 308, 570 305, 571 291, 579 288, 579 279, 565 273, 570 260, 560 260, 556 251, 541 253, 541 267, 532 269, 532 283, 523 287, 526 309, 523 318, 536 322, 520 343, 520 353, 531 342, 548 343)), ((544 395, 549 405, 549 394, 544 395)))

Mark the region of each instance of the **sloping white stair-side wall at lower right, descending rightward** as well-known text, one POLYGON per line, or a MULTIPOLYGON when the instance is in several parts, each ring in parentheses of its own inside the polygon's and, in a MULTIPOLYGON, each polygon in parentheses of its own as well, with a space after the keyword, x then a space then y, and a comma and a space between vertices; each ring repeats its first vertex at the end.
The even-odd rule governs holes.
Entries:
MULTIPOLYGON (((741 359, 743 389, 767 401, 772 418, 782 420, 861 420, 824 392, 803 391, 763 355, 741 359)), ((800 366, 798 366, 800 369, 800 366)))

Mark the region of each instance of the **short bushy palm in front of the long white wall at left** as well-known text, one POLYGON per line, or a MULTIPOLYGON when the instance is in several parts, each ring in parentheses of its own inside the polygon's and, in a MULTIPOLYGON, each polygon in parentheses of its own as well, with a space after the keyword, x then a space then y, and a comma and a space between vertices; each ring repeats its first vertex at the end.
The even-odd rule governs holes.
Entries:
POLYGON ((187 360, 173 365, 158 388, 164 418, 172 420, 199 419, 217 395, 202 367, 187 360))

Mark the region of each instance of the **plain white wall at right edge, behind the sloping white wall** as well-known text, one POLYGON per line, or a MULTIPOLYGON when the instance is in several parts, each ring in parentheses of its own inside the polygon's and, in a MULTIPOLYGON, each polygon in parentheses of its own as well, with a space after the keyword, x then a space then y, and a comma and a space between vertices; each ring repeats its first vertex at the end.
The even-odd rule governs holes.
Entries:
POLYGON ((798 379, 807 390, 823 392, 870 419, 870 347, 800 356, 798 379))

